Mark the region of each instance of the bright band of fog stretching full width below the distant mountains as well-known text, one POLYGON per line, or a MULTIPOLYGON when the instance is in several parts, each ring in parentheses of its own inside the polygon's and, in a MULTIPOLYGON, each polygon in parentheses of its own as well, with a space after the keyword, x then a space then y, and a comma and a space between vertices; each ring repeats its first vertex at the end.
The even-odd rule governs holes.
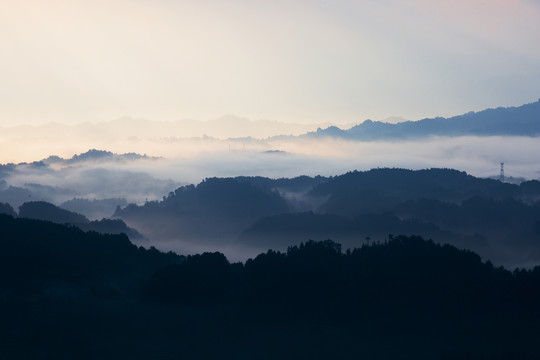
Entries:
POLYGON ((540 175, 540 161, 536 156, 540 150, 538 137, 462 136, 372 142, 309 137, 267 140, 148 137, 137 141, 115 138, 100 142, 94 138, 59 135, 52 140, 20 138, 0 143, 2 154, 18 155, 26 161, 49 155, 71 157, 91 148, 164 157, 169 162, 142 161, 119 167, 182 183, 198 183, 211 176, 330 176, 374 167, 445 167, 475 176, 489 176, 498 174, 500 162, 505 163, 508 175, 526 178, 540 175))

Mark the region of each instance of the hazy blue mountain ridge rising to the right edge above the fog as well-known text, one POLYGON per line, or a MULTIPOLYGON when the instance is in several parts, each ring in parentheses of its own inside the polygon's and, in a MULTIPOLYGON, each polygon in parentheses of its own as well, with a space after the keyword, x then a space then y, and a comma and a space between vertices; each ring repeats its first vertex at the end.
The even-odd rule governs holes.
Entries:
POLYGON ((366 120, 349 130, 335 126, 307 133, 308 137, 340 137, 351 140, 414 139, 426 136, 538 136, 540 100, 519 107, 499 107, 451 118, 437 117, 397 124, 366 120))

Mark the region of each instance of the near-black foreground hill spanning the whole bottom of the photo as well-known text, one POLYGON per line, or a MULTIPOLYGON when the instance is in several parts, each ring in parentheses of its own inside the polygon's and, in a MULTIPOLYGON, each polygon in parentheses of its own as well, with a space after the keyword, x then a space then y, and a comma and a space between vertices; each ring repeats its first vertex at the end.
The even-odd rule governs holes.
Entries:
POLYGON ((397 236, 245 264, 0 215, 0 355, 40 359, 536 359, 540 268, 397 236), (211 346, 209 346, 211 344, 211 346))

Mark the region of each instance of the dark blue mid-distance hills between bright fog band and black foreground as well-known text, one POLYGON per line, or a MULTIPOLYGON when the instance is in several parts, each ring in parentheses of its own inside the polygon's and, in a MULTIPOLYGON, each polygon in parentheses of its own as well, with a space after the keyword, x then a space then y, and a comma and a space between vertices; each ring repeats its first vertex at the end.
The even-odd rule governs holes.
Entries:
POLYGON ((150 239, 260 249, 422 235, 516 264, 540 259, 539 200, 535 180, 516 185, 450 169, 373 169, 330 178, 212 178, 162 201, 119 208, 115 217, 150 239))

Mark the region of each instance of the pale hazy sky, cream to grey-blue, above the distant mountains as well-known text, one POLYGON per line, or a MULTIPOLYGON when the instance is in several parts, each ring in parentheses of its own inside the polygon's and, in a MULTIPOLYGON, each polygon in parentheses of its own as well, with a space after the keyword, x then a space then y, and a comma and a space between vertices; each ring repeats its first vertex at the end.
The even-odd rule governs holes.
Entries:
POLYGON ((539 97, 537 0, 0 0, 0 126, 414 120, 539 97))

